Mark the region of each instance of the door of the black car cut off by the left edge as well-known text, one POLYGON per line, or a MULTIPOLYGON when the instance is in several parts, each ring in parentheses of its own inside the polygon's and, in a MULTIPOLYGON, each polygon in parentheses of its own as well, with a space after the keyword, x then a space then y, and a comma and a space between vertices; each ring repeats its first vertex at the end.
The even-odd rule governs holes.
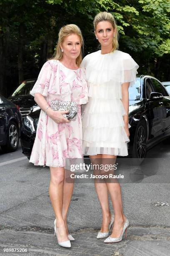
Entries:
POLYGON ((6 121, 7 113, 6 113, 6 105, 0 97, 0 144, 6 140, 6 121))

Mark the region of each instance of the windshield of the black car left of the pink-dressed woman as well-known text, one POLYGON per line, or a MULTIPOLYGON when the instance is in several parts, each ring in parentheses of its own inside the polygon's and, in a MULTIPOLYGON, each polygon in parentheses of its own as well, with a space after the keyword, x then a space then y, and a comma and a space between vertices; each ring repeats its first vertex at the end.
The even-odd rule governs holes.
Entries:
POLYGON ((33 81, 24 81, 22 84, 18 86, 18 88, 13 92, 12 97, 21 96, 21 95, 30 95, 30 91, 35 84, 35 80, 33 81))

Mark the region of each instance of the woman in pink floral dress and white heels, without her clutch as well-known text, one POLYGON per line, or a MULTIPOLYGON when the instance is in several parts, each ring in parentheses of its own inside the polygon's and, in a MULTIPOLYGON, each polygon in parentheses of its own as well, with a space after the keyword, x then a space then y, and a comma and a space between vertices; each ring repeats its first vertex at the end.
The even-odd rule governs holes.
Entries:
POLYGON ((74 183, 65 182, 65 159, 82 158, 81 104, 87 103, 85 71, 80 68, 83 38, 80 29, 66 25, 60 29, 54 59, 43 65, 31 94, 41 108, 30 162, 50 166, 50 200, 55 212, 55 233, 60 246, 70 247, 67 211, 74 183), (67 120, 67 111, 54 111, 52 100, 74 101, 78 105, 75 120, 67 120))

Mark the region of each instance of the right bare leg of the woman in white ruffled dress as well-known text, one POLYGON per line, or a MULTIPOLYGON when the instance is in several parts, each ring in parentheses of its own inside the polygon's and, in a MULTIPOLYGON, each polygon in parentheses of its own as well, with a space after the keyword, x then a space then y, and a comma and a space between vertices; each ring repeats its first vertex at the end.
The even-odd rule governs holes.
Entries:
MULTIPOLYGON (((103 164, 108 164, 108 159, 109 164, 111 159, 113 159, 112 164, 115 164, 116 156, 102 155, 102 159, 103 164)), ((119 237, 122 233, 123 224, 126 220, 126 217, 122 209, 121 187, 117 180, 110 180, 110 182, 106 183, 106 185, 110 194, 110 198, 115 213, 111 237, 119 237)))

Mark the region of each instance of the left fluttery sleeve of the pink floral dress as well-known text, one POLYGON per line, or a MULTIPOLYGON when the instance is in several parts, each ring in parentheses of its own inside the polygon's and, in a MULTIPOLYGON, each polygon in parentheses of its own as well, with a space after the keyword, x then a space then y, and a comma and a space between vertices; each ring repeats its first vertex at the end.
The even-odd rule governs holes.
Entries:
POLYGON ((42 66, 42 69, 40 70, 40 73, 38 75, 38 79, 30 92, 32 96, 35 96, 35 93, 38 92, 43 96, 47 97, 51 74, 52 67, 50 65, 50 62, 46 61, 45 64, 42 66))

